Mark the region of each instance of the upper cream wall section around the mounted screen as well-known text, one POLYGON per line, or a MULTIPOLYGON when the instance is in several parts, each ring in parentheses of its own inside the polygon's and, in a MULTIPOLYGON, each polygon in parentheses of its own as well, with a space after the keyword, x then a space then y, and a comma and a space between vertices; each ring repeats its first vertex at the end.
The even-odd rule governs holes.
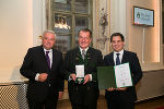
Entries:
POLYGON ((128 47, 138 53, 144 71, 163 69, 161 0, 127 1, 128 47), (154 26, 132 25, 133 5, 154 10, 154 26))

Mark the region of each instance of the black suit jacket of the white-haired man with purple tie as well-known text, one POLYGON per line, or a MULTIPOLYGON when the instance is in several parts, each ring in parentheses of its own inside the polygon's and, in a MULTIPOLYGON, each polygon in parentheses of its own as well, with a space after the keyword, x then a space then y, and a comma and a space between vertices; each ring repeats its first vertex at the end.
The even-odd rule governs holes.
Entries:
POLYGON ((49 69, 43 46, 30 48, 20 72, 30 80, 26 97, 43 101, 46 97, 51 99, 58 97, 58 92, 63 90, 63 80, 60 76, 62 53, 52 49, 52 64, 49 69), (45 82, 35 81, 37 73, 48 73, 45 82))

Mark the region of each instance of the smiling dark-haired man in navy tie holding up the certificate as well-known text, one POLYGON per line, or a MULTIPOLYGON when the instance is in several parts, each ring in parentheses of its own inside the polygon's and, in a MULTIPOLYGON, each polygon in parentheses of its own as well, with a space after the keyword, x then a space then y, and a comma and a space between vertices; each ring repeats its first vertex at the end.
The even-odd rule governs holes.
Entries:
POLYGON ((114 52, 105 56, 104 62, 106 65, 115 65, 118 86, 117 88, 108 87, 105 92, 108 109, 134 109, 134 101, 137 100, 134 86, 142 77, 139 59, 134 52, 124 49, 125 38, 122 34, 114 33, 110 36, 110 43, 114 52))

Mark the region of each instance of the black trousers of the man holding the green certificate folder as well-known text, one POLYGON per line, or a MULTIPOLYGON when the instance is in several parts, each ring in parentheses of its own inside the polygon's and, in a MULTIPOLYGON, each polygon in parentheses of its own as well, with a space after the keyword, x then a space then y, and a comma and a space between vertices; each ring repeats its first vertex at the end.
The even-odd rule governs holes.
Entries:
POLYGON ((106 93, 108 109, 134 109, 134 101, 126 92, 106 93))

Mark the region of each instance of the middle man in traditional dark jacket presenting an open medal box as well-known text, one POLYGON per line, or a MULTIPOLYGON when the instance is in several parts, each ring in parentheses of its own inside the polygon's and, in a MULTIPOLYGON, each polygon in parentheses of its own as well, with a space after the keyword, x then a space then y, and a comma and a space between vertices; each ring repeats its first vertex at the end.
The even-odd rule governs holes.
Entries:
POLYGON ((90 29, 81 29, 78 35, 79 47, 68 51, 63 62, 69 97, 72 109, 96 109, 99 93, 96 66, 102 65, 103 56, 99 50, 89 47, 92 40, 90 29), (85 52, 84 57, 83 52, 85 52), (78 81, 78 72, 75 72, 78 65, 84 66, 83 82, 78 81))

